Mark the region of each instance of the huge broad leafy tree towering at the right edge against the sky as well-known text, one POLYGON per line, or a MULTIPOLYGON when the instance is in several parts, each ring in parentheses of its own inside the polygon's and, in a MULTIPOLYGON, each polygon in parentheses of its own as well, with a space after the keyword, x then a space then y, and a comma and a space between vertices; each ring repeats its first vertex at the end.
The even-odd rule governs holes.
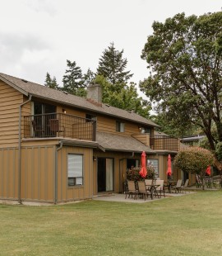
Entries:
POLYGON ((215 150, 222 141, 222 12, 180 13, 155 21, 153 31, 142 50, 150 75, 141 91, 179 130, 200 127, 215 150), (214 123, 218 139, 211 132, 214 123))

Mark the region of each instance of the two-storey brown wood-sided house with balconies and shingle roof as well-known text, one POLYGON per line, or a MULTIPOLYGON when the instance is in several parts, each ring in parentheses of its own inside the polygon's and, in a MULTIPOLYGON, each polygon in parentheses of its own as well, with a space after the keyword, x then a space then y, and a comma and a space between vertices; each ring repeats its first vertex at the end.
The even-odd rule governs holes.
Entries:
POLYGON ((142 151, 166 180, 167 156, 180 143, 155 127, 102 103, 98 84, 82 98, 0 73, 0 199, 58 203, 123 192, 142 151))

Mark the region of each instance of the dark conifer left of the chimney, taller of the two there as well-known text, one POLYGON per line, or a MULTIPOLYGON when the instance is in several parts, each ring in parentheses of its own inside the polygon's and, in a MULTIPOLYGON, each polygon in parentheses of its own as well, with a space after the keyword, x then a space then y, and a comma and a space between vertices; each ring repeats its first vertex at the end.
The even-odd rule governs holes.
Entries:
POLYGON ((81 68, 76 65, 76 61, 71 62, 67 59, 67 70, 63 76, 63 91, 69 92, 73 95, 85 97, 86 85, 82 77, 81 68))

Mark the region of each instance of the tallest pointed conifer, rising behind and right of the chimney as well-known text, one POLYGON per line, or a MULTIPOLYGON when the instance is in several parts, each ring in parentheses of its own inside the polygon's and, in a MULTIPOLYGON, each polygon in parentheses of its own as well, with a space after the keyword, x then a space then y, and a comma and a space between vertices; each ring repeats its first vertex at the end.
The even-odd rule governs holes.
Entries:
POLYGON ((99 59, 97 74, 103 75, 109 83, 116 84, 126 83, 132 78, 130 71, 124 71, 127 68, 127 59, 123 59, 123 50, 118 51, 111 43, 108 50, 104 50, 99 59))

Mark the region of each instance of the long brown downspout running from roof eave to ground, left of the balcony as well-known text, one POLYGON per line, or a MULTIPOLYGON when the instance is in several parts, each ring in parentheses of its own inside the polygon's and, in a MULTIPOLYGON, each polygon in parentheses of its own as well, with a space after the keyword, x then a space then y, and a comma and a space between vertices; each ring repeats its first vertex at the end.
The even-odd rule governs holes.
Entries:
POLYGON ((18 201, 21 204, 21 107, 31 101, 31 95, 26 102, 23 102, 19 107, 19 152, 18 152, 18 201))

